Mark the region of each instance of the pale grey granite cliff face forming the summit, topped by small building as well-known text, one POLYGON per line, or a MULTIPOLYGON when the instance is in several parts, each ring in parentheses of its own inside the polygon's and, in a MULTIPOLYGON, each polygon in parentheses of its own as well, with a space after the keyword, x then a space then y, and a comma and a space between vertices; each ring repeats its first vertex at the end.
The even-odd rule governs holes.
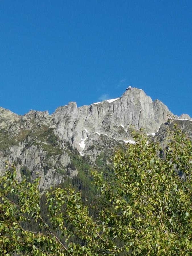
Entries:
POLYGON ((161 123, 175 117, 162 102, 152 102, 143 90, 137 88, 130 88, 120 98, 90 106, 77 108, 75 102, 69 102, 67 106, 57 108, 52 116, 61 137, 79 150, 81 141, 92 133, 131 139, 128 132, 130 125, 134 129, 144 128, 147 133, 153 133, 161 123), (123 133, 117 133, 120 126, 125 128, 123 133))

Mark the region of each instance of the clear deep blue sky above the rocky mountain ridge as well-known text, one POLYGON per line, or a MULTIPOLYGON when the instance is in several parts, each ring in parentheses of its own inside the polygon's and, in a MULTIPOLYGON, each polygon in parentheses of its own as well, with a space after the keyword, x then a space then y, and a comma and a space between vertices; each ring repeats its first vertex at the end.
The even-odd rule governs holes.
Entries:
POLYGON ((0 106, 24 114, 131 85, 192 116, 192 1, 0 1, 0 106))

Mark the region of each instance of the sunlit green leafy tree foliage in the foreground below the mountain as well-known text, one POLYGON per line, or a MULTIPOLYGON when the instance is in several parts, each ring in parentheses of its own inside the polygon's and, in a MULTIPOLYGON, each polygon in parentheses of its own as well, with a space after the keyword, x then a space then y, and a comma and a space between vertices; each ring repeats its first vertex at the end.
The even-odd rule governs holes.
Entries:
POLYGON ((145 136, 135 140, 116 152, 113 176, 92 172, 94 217, 80 192, 59 187, 46 193, 46 222, 38 179, 18 182, 9 166, 0 178, 0 254, 191 255, 191 142, 178 129, 164 151, 145 136), (23 228, 30 221, 38 230, 23 228))

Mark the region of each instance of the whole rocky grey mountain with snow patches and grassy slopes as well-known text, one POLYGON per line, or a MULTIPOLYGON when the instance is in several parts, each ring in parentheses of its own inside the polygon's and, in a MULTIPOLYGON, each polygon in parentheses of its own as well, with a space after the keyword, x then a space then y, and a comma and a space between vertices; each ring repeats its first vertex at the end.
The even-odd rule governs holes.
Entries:
POLYGON ((144 128, 149 138, 165 141, 176 122, 191 136, 191 120, 187 114, 177 117, 137 88, 89 106, 69 102, 52 115, 30 110, 20 116, 0 108, 0 170, 5 171, 5 160, 14 162, 19 180, 41 177, 44 191, 90 168, 110 169, 115 148, 135 143, 133 130, 144 128))

